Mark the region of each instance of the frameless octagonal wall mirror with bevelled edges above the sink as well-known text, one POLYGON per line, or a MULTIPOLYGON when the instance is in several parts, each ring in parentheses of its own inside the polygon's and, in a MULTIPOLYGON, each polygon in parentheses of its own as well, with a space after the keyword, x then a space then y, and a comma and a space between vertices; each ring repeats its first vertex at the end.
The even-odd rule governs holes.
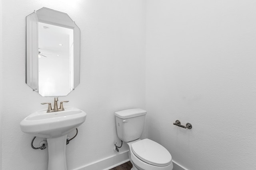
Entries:
POLYGON ((26 84, 66 96, 80 81, 80 29, 68 14, 41 8, 26 17, 26 84))

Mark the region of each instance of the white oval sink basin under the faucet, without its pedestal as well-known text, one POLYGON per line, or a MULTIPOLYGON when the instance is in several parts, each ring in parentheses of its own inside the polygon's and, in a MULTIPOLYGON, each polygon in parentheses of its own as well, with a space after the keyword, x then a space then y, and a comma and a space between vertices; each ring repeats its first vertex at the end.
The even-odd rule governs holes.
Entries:
POLYGON ((21 131, 36 137, 55 138, 70 133, 86 119, 86 113, 74 107, 51 113, 46 111, 36 111, 23 119, 20 122, 21 131))

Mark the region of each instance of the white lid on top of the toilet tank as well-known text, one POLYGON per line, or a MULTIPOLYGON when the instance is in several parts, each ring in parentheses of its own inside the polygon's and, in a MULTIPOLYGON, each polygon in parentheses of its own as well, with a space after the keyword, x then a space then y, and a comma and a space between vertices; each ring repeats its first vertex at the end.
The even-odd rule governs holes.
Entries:
POLYGON ((136 117, 136 116, 141 116, 141 115, 146 115, 147 111, 143 109, 127 109, 127 110, 122 110, 122 111, 116 111, 115 115, 117 117, 120 117, 121 119, 127 119, 130 117, 136 117))

